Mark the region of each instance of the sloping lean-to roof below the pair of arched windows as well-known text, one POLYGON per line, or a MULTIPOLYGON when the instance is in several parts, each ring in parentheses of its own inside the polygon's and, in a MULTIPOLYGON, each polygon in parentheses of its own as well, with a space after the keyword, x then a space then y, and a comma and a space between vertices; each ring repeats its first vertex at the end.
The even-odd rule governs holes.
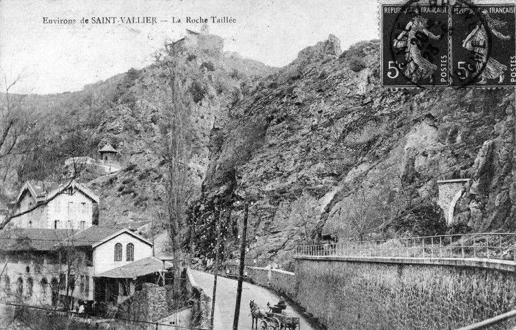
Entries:
MULTIPOLYGON (((172 263, 165 261, 164 268, 169 270, 173 267, 172 263)), ((135 278, 138 276, 144 276, 152 274, 154 272, 162 272, 163 261, 156 258, 155 256, 148 256, 147 258, 134 261, 124 266, 108 270, 107 272, 100 273, 95 277, 110 277, 110 278, 135 278)))

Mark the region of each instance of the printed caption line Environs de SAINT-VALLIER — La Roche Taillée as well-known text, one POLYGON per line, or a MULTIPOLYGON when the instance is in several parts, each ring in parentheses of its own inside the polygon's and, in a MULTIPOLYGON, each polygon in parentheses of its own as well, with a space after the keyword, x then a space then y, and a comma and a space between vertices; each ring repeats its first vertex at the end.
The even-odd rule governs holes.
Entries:
POLYGON ((43 24, 156 24, 158 22, 171 23, 237 23, 237 19, 228 16, 209 16, 209 17, 168 17, 158 19, 158 17, 82 17, 81 19, 61 19, 43 17, 43 24))

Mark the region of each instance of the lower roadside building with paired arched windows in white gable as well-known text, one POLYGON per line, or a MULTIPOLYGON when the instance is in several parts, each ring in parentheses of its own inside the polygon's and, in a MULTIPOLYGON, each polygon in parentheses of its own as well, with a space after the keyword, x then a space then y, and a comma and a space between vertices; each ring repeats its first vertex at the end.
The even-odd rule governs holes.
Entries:
POLYGON ((152 243, 127 228, 3 230, 0 301, 69 307, 74 300, 104 299, 94 294, 100 292, 96 276, 151 256, 152 243))

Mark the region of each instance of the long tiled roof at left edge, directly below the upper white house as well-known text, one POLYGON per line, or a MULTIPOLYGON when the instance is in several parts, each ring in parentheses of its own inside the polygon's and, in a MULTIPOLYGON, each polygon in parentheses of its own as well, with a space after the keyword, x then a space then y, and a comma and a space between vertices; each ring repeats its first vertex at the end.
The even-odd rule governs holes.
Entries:
POLYGON ((13 228, 0 230, 0 250, 53 250, 59 242, 72 236, 72 230, 13 228))

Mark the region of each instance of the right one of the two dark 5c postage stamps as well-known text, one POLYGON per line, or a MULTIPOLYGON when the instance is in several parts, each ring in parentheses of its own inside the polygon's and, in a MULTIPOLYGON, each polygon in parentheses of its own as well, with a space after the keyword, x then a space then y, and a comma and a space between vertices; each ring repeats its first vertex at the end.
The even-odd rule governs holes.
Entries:
POLYGON ((450 15, 452 86, 515 85, 515 5, 455 3, 450 15))

